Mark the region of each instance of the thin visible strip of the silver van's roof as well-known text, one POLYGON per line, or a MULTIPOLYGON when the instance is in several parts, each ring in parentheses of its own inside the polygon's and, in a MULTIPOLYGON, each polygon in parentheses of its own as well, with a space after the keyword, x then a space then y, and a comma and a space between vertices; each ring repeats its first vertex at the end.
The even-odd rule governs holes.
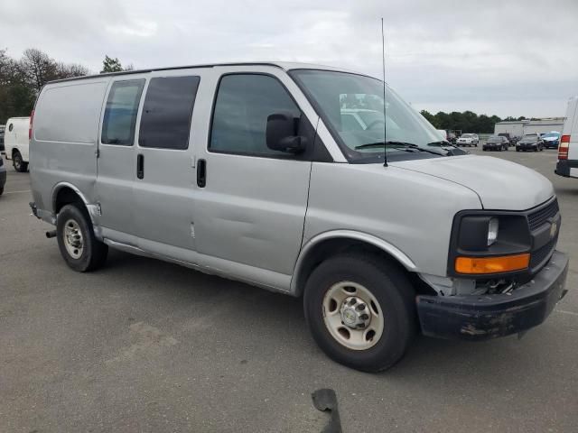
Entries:
POLYGON ((73 78, 62 78, 49 81, 49 83, 60 83, 61 81, 73 81, 77 79, 88 79, 88 78, 100 78, 100 77, 115 77, 117 75, 130 75, 130 74, 140 74, 144 72, 154 72, 158 70, 175 70, 175 69, 195 69, 195 68, 214 68, 218 66, 273 66, 275 68, 291 70, 291 69, 322 69, 322 70, 334 70, 339 72, 351 72, 358 75, 362 74, 353 70, 335 68, 326 65, 317 65, 314 63, 300 63, 292 61, 241 61, 241 62, 229 62, 229 63, 207 63, 200 65, 187 65, 187 66, 173 66, 169 68, 151 68, 151 69, 135 69, 135 70, 123 70, 120 72, 107 72, 104 74, 94 74, 94 75, 84 75, 82 77, 73 78))

